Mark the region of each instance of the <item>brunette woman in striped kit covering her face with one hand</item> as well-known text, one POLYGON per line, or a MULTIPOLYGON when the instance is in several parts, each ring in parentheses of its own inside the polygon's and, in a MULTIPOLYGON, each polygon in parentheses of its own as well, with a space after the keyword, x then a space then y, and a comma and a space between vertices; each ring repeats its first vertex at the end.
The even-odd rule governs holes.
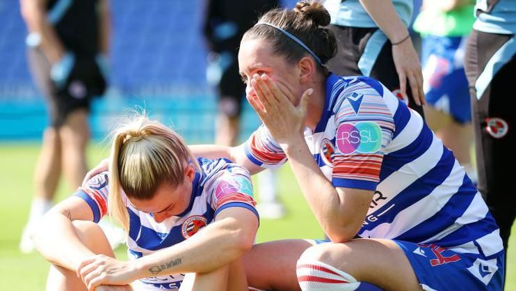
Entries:
POLYGON ((253 247, 244 262, 250 285, 501 290, 503 246, 481 194, 421 116, 380 82, 328 72, 337 52, 329 23, 316 2, 263 15, 243 36, 239 70, 264 125, 236 148, 192 147, 251 173, 288 160, 332 241, 253 247))

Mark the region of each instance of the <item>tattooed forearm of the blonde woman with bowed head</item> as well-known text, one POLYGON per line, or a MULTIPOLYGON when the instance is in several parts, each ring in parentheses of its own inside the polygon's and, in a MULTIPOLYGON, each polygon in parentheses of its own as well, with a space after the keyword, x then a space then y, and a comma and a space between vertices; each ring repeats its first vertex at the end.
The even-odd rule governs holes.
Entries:
POLYGON ((138 259, 138 277, 211 272, 250 249, 253 239, 243 242, 245 237, 249 234, 243 233, 236 219, 217 221, 184 242, 138 259))

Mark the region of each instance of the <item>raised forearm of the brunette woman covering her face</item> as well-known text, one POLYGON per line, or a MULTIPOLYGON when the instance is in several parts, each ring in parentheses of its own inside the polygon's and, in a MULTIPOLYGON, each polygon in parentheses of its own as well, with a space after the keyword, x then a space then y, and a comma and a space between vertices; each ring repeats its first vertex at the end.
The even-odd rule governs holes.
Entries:
POLYGON ((303 196, 325 233, 332 240, 346 241, 355 237, 357 230, 353 226, 350 228, 350 214, 342 211, 344 197, 323 175, 306 142, 300 140, 289 143, 289 146, 282 145, 282 148, 289 158, 303 196))

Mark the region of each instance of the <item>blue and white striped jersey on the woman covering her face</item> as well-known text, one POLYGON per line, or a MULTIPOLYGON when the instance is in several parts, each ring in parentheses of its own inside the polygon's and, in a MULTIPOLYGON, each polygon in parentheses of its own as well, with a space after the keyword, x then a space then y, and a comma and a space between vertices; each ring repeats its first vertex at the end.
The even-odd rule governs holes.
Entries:
MULTIPOLYGON (((313 132, 305 129, 305 141, 334 187, 374 191, 361 237, 487 257, 503 251, 499 229, 464 168, 421 116, 380 82, 330 75, 325 111, 313 132)), ((263 125, 245 152, 263 167, 287 161, 263 125)))

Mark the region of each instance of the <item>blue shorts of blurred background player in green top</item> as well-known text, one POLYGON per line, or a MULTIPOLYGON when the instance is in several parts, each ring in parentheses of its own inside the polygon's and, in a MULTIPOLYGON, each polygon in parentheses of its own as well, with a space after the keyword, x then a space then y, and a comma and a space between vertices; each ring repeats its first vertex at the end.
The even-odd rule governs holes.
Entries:
POLYGON ((462 37, 425 36, 421 51, 426 101, 460 124, 471 122, 464 46, 462 37))

